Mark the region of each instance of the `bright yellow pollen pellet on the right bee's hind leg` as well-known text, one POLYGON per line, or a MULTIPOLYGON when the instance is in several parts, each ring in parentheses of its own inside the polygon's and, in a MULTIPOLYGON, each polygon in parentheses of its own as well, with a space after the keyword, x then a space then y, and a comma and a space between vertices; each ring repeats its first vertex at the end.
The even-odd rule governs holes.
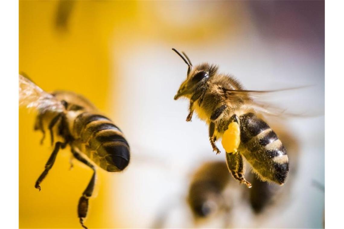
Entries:
POLYGON ((240 127, 237 122, 228 125, 222 136, 222 146, 227 153, 236 153, 240 144, 240 127))

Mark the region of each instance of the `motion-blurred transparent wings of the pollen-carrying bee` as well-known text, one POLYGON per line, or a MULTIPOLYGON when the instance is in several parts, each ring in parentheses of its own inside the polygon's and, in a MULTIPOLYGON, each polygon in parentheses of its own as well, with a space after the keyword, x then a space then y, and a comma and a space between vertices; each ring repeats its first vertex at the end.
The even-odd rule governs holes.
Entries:
POLYGON ((231 90, 222 88, 229 100, 250 98, 248 108, 264 116, 311 117, 323 115, 321 104, 313 98, 312 86, 286 88, 271 91, 231 90), (288 107, 288 108, 283 108, 288 107))

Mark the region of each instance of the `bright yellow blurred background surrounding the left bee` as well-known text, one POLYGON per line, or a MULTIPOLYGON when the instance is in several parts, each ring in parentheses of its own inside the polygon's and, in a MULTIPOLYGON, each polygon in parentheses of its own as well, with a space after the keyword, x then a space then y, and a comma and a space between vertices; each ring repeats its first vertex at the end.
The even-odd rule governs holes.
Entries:
MULTIPOLYGON (((46 91, 60 89, 87 95, 101 111, 109 113, 109 39, 116 23, 126 16, 129 19, 130 14, 114 7, 114 2, 75 3, 73 20, 68 21, 67 27, 59 28, 55 21, 61 2, 20 1, 19 71, 46 91)), ((126 7, 128 12, 133 11, 135 3, 126 3, 126 7)), ((49 136, 43 146, 39 145, 42 136, 33 132, 34 114, 20 109, 19 117, 20 228, 79 228, 78 198, 92 171, 77 161, 69 171, 70 155, 65 149, 58 154, 39 192, 34 182, 43 171, 52 147, 49 136)), ((106 172, 98 171, 99 192, 96 201, 90 201, 86 223, 92 228, 114 226, 116 213, 108 211, 107 176, 106 172)))

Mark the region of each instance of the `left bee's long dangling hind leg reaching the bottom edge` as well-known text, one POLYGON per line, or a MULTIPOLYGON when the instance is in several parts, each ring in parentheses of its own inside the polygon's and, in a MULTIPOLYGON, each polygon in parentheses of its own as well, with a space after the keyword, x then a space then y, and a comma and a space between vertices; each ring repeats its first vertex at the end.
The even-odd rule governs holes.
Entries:
POLYGON ((94 189, 94 185, 95 185, 95 181, 96 181, 96 169, 93 166, 93 164, 89 163, 85 158, 83 158, 82 156, 80 156, 80 154, 72 148, 72 153, 73 156, 80 162, 84 163, 85 165, 87 165, 88 167, 90 167, 93 170, 93 175, 91 180, 89 181, 85 191, 83 192, 83 195, 80 197, 79 199, 79 204, 78 204, 78 217, 80 219, 80 224, 83 228, 87 228, 84 225, 84 219, 87 215, 87 211, 88 211, 88 199, 89 197, 92 196, 93 193, 93 189, 94 189))

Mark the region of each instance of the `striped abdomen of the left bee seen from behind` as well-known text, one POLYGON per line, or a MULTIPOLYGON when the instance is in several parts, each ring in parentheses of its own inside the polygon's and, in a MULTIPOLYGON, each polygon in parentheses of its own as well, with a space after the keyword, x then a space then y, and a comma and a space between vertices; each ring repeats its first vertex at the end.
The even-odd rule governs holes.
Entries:
POLYGON ((89 112, 79 114, 74 120, 73 136, 84 144, 84 153, 104 170, 116 172, 127 167, 128 142, 107 117, 89 112))

